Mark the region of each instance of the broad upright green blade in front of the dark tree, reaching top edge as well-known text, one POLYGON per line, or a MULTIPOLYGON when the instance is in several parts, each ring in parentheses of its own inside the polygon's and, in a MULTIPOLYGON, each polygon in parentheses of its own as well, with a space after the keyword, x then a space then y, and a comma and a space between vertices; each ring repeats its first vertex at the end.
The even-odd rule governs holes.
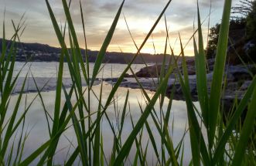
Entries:
POLYGON ((220 25, 220 35, 217 44, 217 54, 213 68, 213 81, 210 88, 210 111, 209 111, 209 147, 213 147, 213 140, 216 132, 217 115, 220 110, 220 91, 224 75, 224 66, 227 56, 227 40, 230 22, 230 9, 232 0, 225 0, 224 12, 220 25))

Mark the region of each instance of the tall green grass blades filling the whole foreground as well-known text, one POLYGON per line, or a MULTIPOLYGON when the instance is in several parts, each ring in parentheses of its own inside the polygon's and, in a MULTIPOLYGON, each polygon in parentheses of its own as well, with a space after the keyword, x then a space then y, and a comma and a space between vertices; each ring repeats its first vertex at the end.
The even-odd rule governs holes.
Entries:
MULTIPOLYGON (((136 77, 134 71, 131 69, 131 64, 134 62, 137 56, 140 56, 140 51, 145 46, 148 38, 152 36, 156 25, 162 19, 162 15, 166 12, 166 9, 171 4, 171 0, 167 2, 166 6, 162 9, 159 17, 156 19, 152 29, 148 32, 141 46, 137 46, 135 40, 132 38, 137 50, 137 53, 128 62, 127 67, 121 73, 118 81, 112 86, 111 92, 107 97, 107 100, 103 102, 103 83, 101 83, 101 92, 97 95, 94 92, 93 86, 94 81, 98 76, 99 71, 103 66, 104 55, 111 42, 111 38, 114 35, 114 30, 118 24, 121 10, 125 5, 125 1, 121 2, 120 8, 114 21, 112 22, 111 28, 108 31, 106 38, 101 46, 101 49, 97 55, 97 60, 94 65, 93 74, 90 77, 88 62, 89 54, 85 52, 86 62, 84 63, 84 55, 80 52, 80 44, 77 39, 77 33, 73 25, 73 19, 70 15, 70 3, 63 0, 63 10, 67 21, 65 22, 64 29, 58 25, 56 21, 56 15, 54 14, 49 1, 46 0, 46 7, 49 11, 50 19, 53 23, 53 28, 56 32, 56 36, 61 46, 60 63, 56 80, 56 96, 53 109, 53 117, 49 117, 49 113, 44 107, 43 97, 41 90, 36 85, 37 95, 41 103, 43 103, 43 111, 45 112, 49 140, 44 142, 40 147, 36 147, 36 151, 32 152, 26 158, 23 157, 23 147, 26 144, 26 137, 29 137, 28 133, 24 134, 24 120, 26 113, 29 111, 29 107, 32 103, 29 103, 21 117, 17 117, 17 111, 22 97, 24 97, 24 88, 26 84, 26 78, 22 83, 22 90, 18 94, 18 100, 15 103, 14 110, 9 110, 9 101, 12 97, 12 91, 15 88, 15 83, 19 77, 19 73, 13 76, 13 70, 15 66, 16 46, 15 43, 19 40, 19 37, 23 32, 23 22, 19 22, 17 27, 13 23, 15 34, 9 44, 5 43, 5 22, 3 22, 3 43, 2 53, 0 57, 0 162, 2 165, 29 165, 32 162, 36 162, 37 165, 53 165, 54 156, 56 154, 56 148, 58 146, 60 137, 63 135, 65 130, 70 127, 73 128, 77 144, 73 151, 70 151, 70 155, 67 156, 65 164, 72 165, 76 161, 80 161, 82 165, 150 165, 150 161, 147 161, 148 146, 152 146, 153 154, 156 158, 156 165, 183 165, 184 158, 184 137, 189 134, 190 140, 190 151, 192 152, 191 165, 241 165, 248 163, 248 160, 255 160, 253 157, 255 153, 254 149, 249 151, 247 142, 251 137, 251 132, 254 129, 254 119, 256 110, 256 78, 252 80, 251 86, 249 86, 244 97, 241 99, 237 106, 234 107, 233 116, 226 124, 223 123, 222 114, 223 110, 220 107, 220 97, 223 91, 223 75, 224 67, 226 63, 227 53, 227 39, 230 19, 230 8, 231 0, 224 2, 224 13, 220 28, 220 38, 217 46, 217 56, 215 59, 215 65, 213 69, 213 81, 211 83, 210 93, 207 90, 207 70, 206 70, 206 56, 203 46, 203 35, 201 28, 200 9, 197 8, 197 29, 189 39, 192 39, 195 53, 196 62, 196 86, 198 91, 198 100, 200 103, 200 111, 196 110, 194 106, 190 90, 189 90, 189 76, 187 73, 186 58, 184 55, 184 49, 181 42, 181 36, 179 36, 181 53, 178 57, 173 54, 173 48, 169 43, 169 29, 167 28, 166 22, 166 43, 164 51, 164 59, 162 61, 162 69, 159 75, 158 83, 155 83, 155 93, 152 97, 148 96, 148 93, 136 77), (21 32, 20 32, 21 31, 21 32), (196 43, 196 35, 198 36, 198 43, 196 43), (67 48, 67 40, 69 40, 70 49, 67 48), (8 46, 9 45, 9 46, 8 46), (9 50, 7 49, 9 48, 9 50), (172 58, 169 61, 166 69, 167 49, 172 51, 172 58), (68 69, 72 80, 72 87, 67 90, 63 86, 63 63, 64 59, 67 59, 68 69), (182 59, 183 72, 179 70, 178 60, 182 59), (188 130, 184 130, 183 137, 179 141, 179 144, 173 144, 172 132, 169 126, 173 125, 169 120, 172 113, 172 99, 175 92, 175 86, 172 88, 172 93, 168 99, 168 106, 163 107, 166 90, 168 89, 169 76, 173 74, 174 69, 178 71, 176 73, 176 82, 179 82, 182 86, 183 95, 186 101, 186 109, 188 116, 188 130), (125 73, 128 70, 133 73, 135 80, 142 90, 142 94, 146 106, 142 107, 141 103, 138 102, 138 107, 141 110, 141 116, 138 121, 134 121, 128 117, 130 110, 129 105, 129 90, 125 96, 125 104, 121 109, 118 107, 118 100, 116 100, 116 93, 118 88, 121 86, 121 82, 125 77, 125 73), (82 81, 85 80, 87 88, 84 90, 82 81), (61 105, 61 97, 65 97, 64 105, 61 105), (97 110, 91 109, 90 97, 94 95, 98 101, 97 110), (75 98, 75 103, 71 102, 71 97, 75 98), (159 101, 159 112, 155 110, 157 102, 159 101), (118 127, 112 124, 108 117, 108 108, 114 105, 114 113, 116 113, 116 121, 118 127), (239 123, 241 113, 247 109, 246 118, 244 125, 241 130, 236 130, 234 133, 235 126, 239 123), (7 111, 12 111, 11 117, 7 120, 7 111), (159 135, 161 141, 156 141, 155 135, 152 133, 152 129, 148 124, 148 118, 153 121, 153 126, 156 128, 156 133, 159 135), (200 117, 200 118, 198 118, 200 117), (111 157, 106 157, 106 151, 104 151, 104 135, 102 131, 104 127, 101 126, 102 120, 105 118, 108 120, 109 127, 111 127, 111 134, 113 135, 113 147, 111 151, 111 157), (122 137, 123 128, 125 122, 129 121, 132 124, 131 133, 125 139, 122 137), (69 124, 72 124, 69 126, 69 124), (15 133, 18 127, 22 127, 22 133, 18 137, 18 144, 11 143, 10 140, 16 137, 15 133), (203 128, 207 130, 207 135, 203 135, 203 128), (187 132, 189 131, 189 132, 187 132), (146 146, 142 146, 143 134, 148 134, 148 140, 146 146), (17 146, 17 151, 13 151, 14 146, 17 146), (134 158, 130 158, 131 148, 135 147, 136 153, 134 158), (12 154, 16 154, 13 158, 12 154), (36 161, 35 161, 36 160, 36 161)), ((80 16, 81 23, 84 30, 84 41, 85 47, 87 48, 86 39, 86 26, 84 25, 84 10, 82 3, 80 2, 80 16)), ((126 19, 125 19, 126 22, 126 19)), ((128 26, 128 22, 126 22, 128 26)), ((130 32, 130 30, 128 29, 130 32)), ((130 32, 131 35, 131 32, 130 32)), ((188 42, 189 42, 188 41, 188 42)), ((147 64, 145 64, 147 66, 147 64)), ((33 77, 32 77, 33 78, 33 77)), ((36 80, 33 78, 34 83, 36 80)), ((36 99, 35 97, 35 99, 36 99)), ((35 100, 34 99, 34 100, 35 100)), ((32 102, 34 101, 32 100, 32 102)), ((16 137, 17 138, 17 137, 16 137)), ((253 163, 253 161, 251 161, 253 163)))

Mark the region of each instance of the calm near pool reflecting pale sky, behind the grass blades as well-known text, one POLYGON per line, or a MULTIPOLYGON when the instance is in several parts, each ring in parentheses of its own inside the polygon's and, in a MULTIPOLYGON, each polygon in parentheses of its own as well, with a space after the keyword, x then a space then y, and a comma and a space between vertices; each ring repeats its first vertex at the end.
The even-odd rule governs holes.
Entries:
MULTIPOLYGON (((106 83, 104 84, 103 90, 104 90, 104 93, 103 93, 103 103, 104 103, 107 100, 108 93, 110 93, 111 86, 106 83)), ((127 90, 128 90, 127 88, 119 88, 117 92, 117 97, 115 99, 118 104, 118 110, 120 111, 122 110, 122 107, 125 103, 125 96, 126 96, 127 90)), ((142 103, 143 108, 145 108, 145 102, 140 90, 132 90, 132 89, 129 89, 129 90, 130 90, 130 96, 129 96, 128 102, 130 105, 130 110, 128 109, 128 111, 131 112, 131 117, 134 123, 136 123, 138 121, 138 118, 141 115, 141 110, 138 106, 138 102, 142 103)), ((99 94, 100 86, 94 86, 94 92, 96 94, 99 94)), ((150 97, 152 97, 152 95, 154 94, 149 91, 147 91, 147 93, 148 93, 148 96, 150 97)), ((19 115, 24 111, 25 107, 28 106, 28 103, 30 103, 32 99, 36 97, 36 93, 27 93, 24 95, 27 95, 27 101, 22 100, 22 105, 19 107, 19 115), (27 104, 25 104, 26 102, 27 104)), ((44 92, 42 93, 42 96, 43 96, 44 104, 46 106, 46 110, 49 112, 51 116, 53 116, 55 92, 54 91, 44 92)), ((85 97, 87 96, 85 95, 85 97)), ((17 96, 12 97, 11 103, 15 103, 15 100, 17 100, 17 96)), ((63 96, 62 106, 64 101, 65 99, 63 96)), ((72 102, 74 103, 75 100, 73 99, 72 102)), ((91 104, 90 105, 91 112, 97 111, 98 102, 96 97, 94 97, 93 95, 91 95, 90 104, 91 104)), ((168 104, 168 98, 166 98, 165 100, 163 110, 166 110, 167 104, 168 104)), ((199 107, 198 103, 195 103, 195 105, 196 107, 199 107)), ((9 109, 13 110, 13 107, 15 107, 14 104, 10 104, 9 109)), ((155 104, 155 110, 157 113, 159 113, 159 101, 155 104)), ((111 123, 114 124, 114 127, 117 127, 117 121, 116 121, 117 113, 114 112, 114 105, 111 105, 108 108, 107 113, 108 113, 108 117, 111 120, 111 123)), ((120 116, 121 116, 121 113, 120 113, 120 116)), ((159 146, 158 148, 160 150, 160 144, 161 144, 160 137, 156 128, 154 127, 152 118, 150 117, 148 117, 148 124, 152 128, 152 133, 154 134, 156 144, 158 144, 159 146)), ((180 139, 183 137, 185 127, 187 126, 188 125, 187 125, 187 117, 186 117, 186 103, 183 101, 173 100, 169 130, 175 145, 178 144, 180 139), (173 122, 173 127, 172 127, 172 122, 173 122)), ((29 109, 29 112, 27 113, 25 128, 27 128, 27 130, 31 130, 25 146, 24 157, 27 157, 29 154, 32 153, 32 151, 36 150, 36 147, 39 147, 49 139, 47 124, 46 124, 46 117, 43 111, 42 103, 39 100, 39 98, 37 98, 35 102, 32 103, 32 106, 29 109)), ((106 120, 105 117, 102 120, 102 130, 103 130, 103 137, 104 137, 104 152, 105 152, 106 158, 108 159, 110 158, 110 155, 111 155, 113 134, 111 131, 111 127, 109 127, 108 121, 106 120)), ((128 113, 127 117, 125 118, 125 125, 122 133, 123 143, 125 142, 125 139, 128 137, 128 134, 130 134, 131 130, 132 130, 131 119, 130 119, 130 114, 128 113)), ((148 134, 144 132, 143 139, 142 139, 143 147, 146 146, 148 139, 149 139, 148 134)), ((63 136, 60 138, 58 150, 56 151, 56 155, 54 158, 55 164, 63 164, 65 159, 67 159, 67 156, 69 156, 69 154, 67 154, 69 148, 70 148, 70 151, 72 152, 74 149, 74 147, 72 146, 76 146, 76 144, 77 144, 77 140, 76 140, 75 133, 73 131, 73 127, 70 127, 67 131, 65 131, 63 136), (70 141, 73 144, 71 145, 71 147, 70 147, 70 141)), ((136 151, 135 147, 132 147, 131 155, 129 156, 129 158, 131 158, 131 161, 133 161, 132 158, 135 155, 135 151, 136 151)), ((147 161, 149 165, 155 164, 156 162, 156 159, 152 158, 152 156, 155 156, 155 154, 151 144, 149 144, 148 155, 147 155, 148 157, 147 161)), ((190 154, 190 148, 189 148, 189 135, 187 134, 185 137, 185 158, 184 158, 185 163, 184 164, 189 164, 188 162, 191 158, 190 156, 191 154, 190 154)), ((33 164, 35 164, 35 162, 33 164)))

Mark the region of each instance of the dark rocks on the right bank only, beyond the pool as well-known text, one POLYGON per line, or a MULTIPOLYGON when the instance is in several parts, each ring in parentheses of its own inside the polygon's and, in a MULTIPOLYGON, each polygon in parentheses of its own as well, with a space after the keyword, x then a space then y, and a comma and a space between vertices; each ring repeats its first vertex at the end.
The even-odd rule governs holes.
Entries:
MULTIPOLYGON (((187 68, 189 73, 189 87, 190 93, 194 101, 198 100, 197 90, 196 90, 196 69, 194 66, 194 61, 189 59, 187 60, 187 68)), ((213 78, 213 65, 214 59, 208 59, 208 70, 207 70, 207 82, 208 82, 208 92, 210 93, 210 86, 213 78)), ((181 65, 179 64, 181 68, 181 65)), ((142 68, 135 75, 138 77, 138 80, 145 88, 145 90, 156 90, 158 84, 157 76, 159 76, 161 70, 161 65, 154 65, 142 68)), ((182 70, 181 70, 182 71, 182 70)), ((248 86, 251 85, 252 77, 255 75, 256 69, 255 66, 226 66, 225 76, 226 83, 224 95, 222 100, 224 101, 224 110, 229 110, 233 106, 234 99, 241 100, 246 92, 248 86)), ((166 91, 166 97, 170 97, 172 87, 175 86, 174 100, 185 100, 183 97, 183 92, 179 80, 176 80, 176 70, 169 78, 168 89, 166 91)), ((139 88, 138 83, 136 83, 133 76, 128 76, 125 78, 126 81, 121 83, 123 87, 130 88, 139 88)), ((116 79, 111 80, 113 83, 116 79)))

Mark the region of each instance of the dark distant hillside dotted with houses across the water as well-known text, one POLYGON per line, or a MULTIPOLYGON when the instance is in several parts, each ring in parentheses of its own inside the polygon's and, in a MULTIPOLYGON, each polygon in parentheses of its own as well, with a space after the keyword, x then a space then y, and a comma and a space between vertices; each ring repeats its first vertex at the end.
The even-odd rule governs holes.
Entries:
MULTIPOLYGON (((7 43, 10 42, 6 41, 7 43)), ((39 43, 24 43, 17 42, 17 61, 26 61, 30 58, 33 62, 52 62, 59 61, 60 58, 60 48, 48 46, 39 43)), ((0 39, 0 51, 2 53, 2 39, 0 39)), ((84 49, 81 49, 81 53, 84 55, 84 49)), ((89 62, 94 63, 97 58, 98 51, 88 50, 89 62)), ((104 56, 104 63, 127 63, 129 62, 134 53, 116 53, 108 52, 104 56)), ((146 63, 162 63, 163 54, 152 55, 148 53, 142 53, 143 59, 146 63)), ((141 56, 135 59, 134 63, 143 63, 141 56)))

